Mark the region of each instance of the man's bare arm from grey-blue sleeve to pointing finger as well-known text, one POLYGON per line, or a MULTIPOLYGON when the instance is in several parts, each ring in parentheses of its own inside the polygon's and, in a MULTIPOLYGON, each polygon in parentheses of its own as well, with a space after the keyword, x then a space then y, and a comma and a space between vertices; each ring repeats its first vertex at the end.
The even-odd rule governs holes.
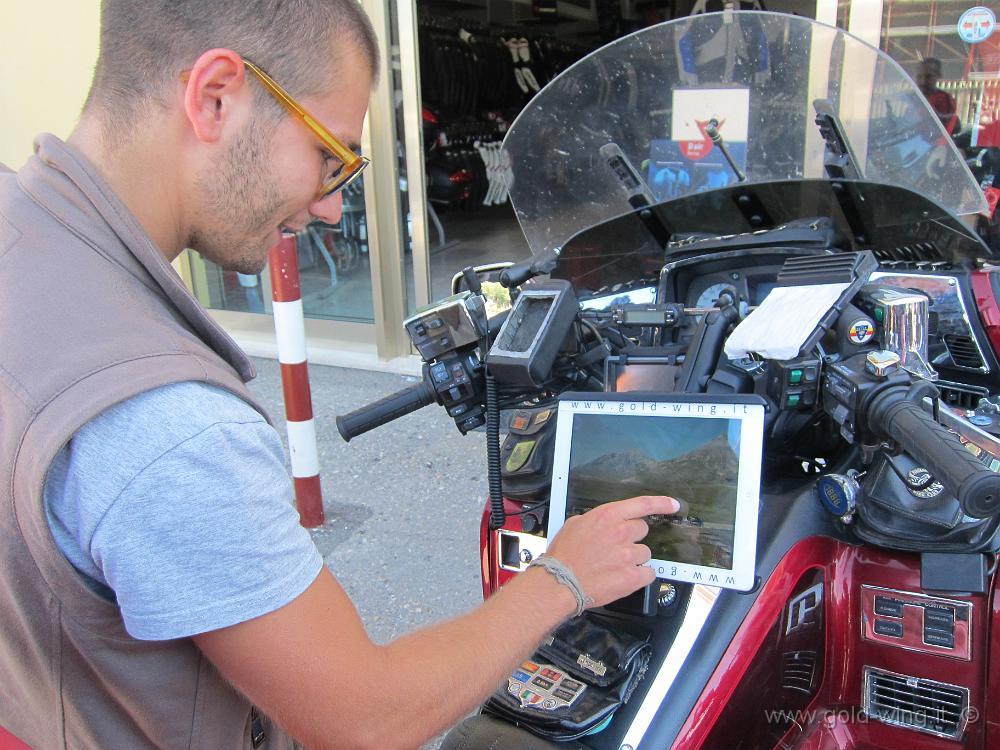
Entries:
MULTIPOLYGON (((637 542, 643 516, 672 513, 640 497, 567 520, 549 553, 595 605, 651 582, 637 542)), ((377 646, 324 569, 288 605, 195 636, 208 658, 261 710, 310 748, 413 748, 481 703, 542 638, 575 611, 544 570, 519 575, 478 609, 377 646)))

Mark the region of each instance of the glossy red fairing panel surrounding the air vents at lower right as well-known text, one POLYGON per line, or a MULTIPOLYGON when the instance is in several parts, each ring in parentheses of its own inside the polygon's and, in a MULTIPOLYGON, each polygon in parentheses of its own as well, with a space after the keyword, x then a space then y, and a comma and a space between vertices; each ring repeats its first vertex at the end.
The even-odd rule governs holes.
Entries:
MULTIPOLYGON (((906 592, 919 592, 919 556, 853 546, 829 537, 807 538, 789 550, 736 633, 695 712, 672 745, 674 750, 723 746, 773 746, 796 750, 956 746, 954 740, 931 731, 893 726, 866 715, 861 695, 866 668, 967 686, 970 708, 968 721, 963 723, 962 747, 991 747, 983 744, 988 732, 995 731, 988 727, 991 717, 995 717, 987 681, 996 682, 986 669, 988 644, 984 634, 989 632, 992 618, 989 597, 949 596, 971 604, 969 632, 979 634, 972 644, 972 659, 966 662, 903 647, 893 648, 858 637, 864 625, 861 599, 866 591, 862 582, 866 586, 886 585, 906 592), (788 594, 797 591, 793 586, 796 576, 809 570, 822 571, 825 580, 834 584, 824 587, 825 669, 814 697, 804 709, 783 708, 775 712, 762 701, 768 695, 766 682, 753 677, 763 678, 773 669, 767 660, 773 660, 775 641, 769 639, 774 635, 775 626, 780 629, 790 613, 797 611, 795 596, 788 594), (696 716, 698 721, 694 720, 696 716), (767 732, 771 726, 780 726, 779 719, 785 720, 786 731, 779 736, 767 732), (733 743, 734 736, 750 737, 751 741, 733 743), (764 742, 764 737, 770 741, 764 742)), ((781 674, 781 670, 776 673, 781 674)))

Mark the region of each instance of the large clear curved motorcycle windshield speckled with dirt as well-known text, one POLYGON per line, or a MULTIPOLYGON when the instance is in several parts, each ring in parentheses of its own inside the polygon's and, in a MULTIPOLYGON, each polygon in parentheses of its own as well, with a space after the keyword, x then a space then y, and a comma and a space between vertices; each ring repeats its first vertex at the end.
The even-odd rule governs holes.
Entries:
POLYGON ((504 141, 511 203, 537 254, 643 202, 731 186, 736 170, 750 183, 826 179, 816 100, 843 123, 865 182, 921 193, 956 214, 985 210, 895 61, 840 29, 761 12, 653 26, 565 71, 504 141))

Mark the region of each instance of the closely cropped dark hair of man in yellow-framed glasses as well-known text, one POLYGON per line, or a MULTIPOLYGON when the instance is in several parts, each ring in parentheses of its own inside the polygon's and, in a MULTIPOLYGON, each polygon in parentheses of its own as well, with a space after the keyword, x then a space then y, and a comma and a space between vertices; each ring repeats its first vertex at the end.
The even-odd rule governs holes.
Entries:
POLYGON ((181 71, 214 47, 252 60, 293 96, 317 95, 335 85, 344 45, 378 75, 375 32, 357 0, 102 0, 84 109, 113 115, 115 140, 127 137, 121 128, 132 130, 149 104, 165 103, 181 71))

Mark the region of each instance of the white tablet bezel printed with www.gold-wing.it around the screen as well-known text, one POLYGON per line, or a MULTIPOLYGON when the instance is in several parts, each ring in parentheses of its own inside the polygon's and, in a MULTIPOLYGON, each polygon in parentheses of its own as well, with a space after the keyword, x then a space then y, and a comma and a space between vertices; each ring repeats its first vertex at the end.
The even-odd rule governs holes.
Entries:
POLYGON ((733 566, 730 569, 653 559, 649 565, 658 578, 750 591, 754 587, 757 554, 757 515, 763 456, 764 404, 756 396, 709 396, 650 393, 564 394, 559 399, 555 455, 547 536, 551 539, 566 520, 570 447, 577 414, 601 414, 619 419, 636 416, 672 419, 738 419, 740 455, 736 491, 733 566))

